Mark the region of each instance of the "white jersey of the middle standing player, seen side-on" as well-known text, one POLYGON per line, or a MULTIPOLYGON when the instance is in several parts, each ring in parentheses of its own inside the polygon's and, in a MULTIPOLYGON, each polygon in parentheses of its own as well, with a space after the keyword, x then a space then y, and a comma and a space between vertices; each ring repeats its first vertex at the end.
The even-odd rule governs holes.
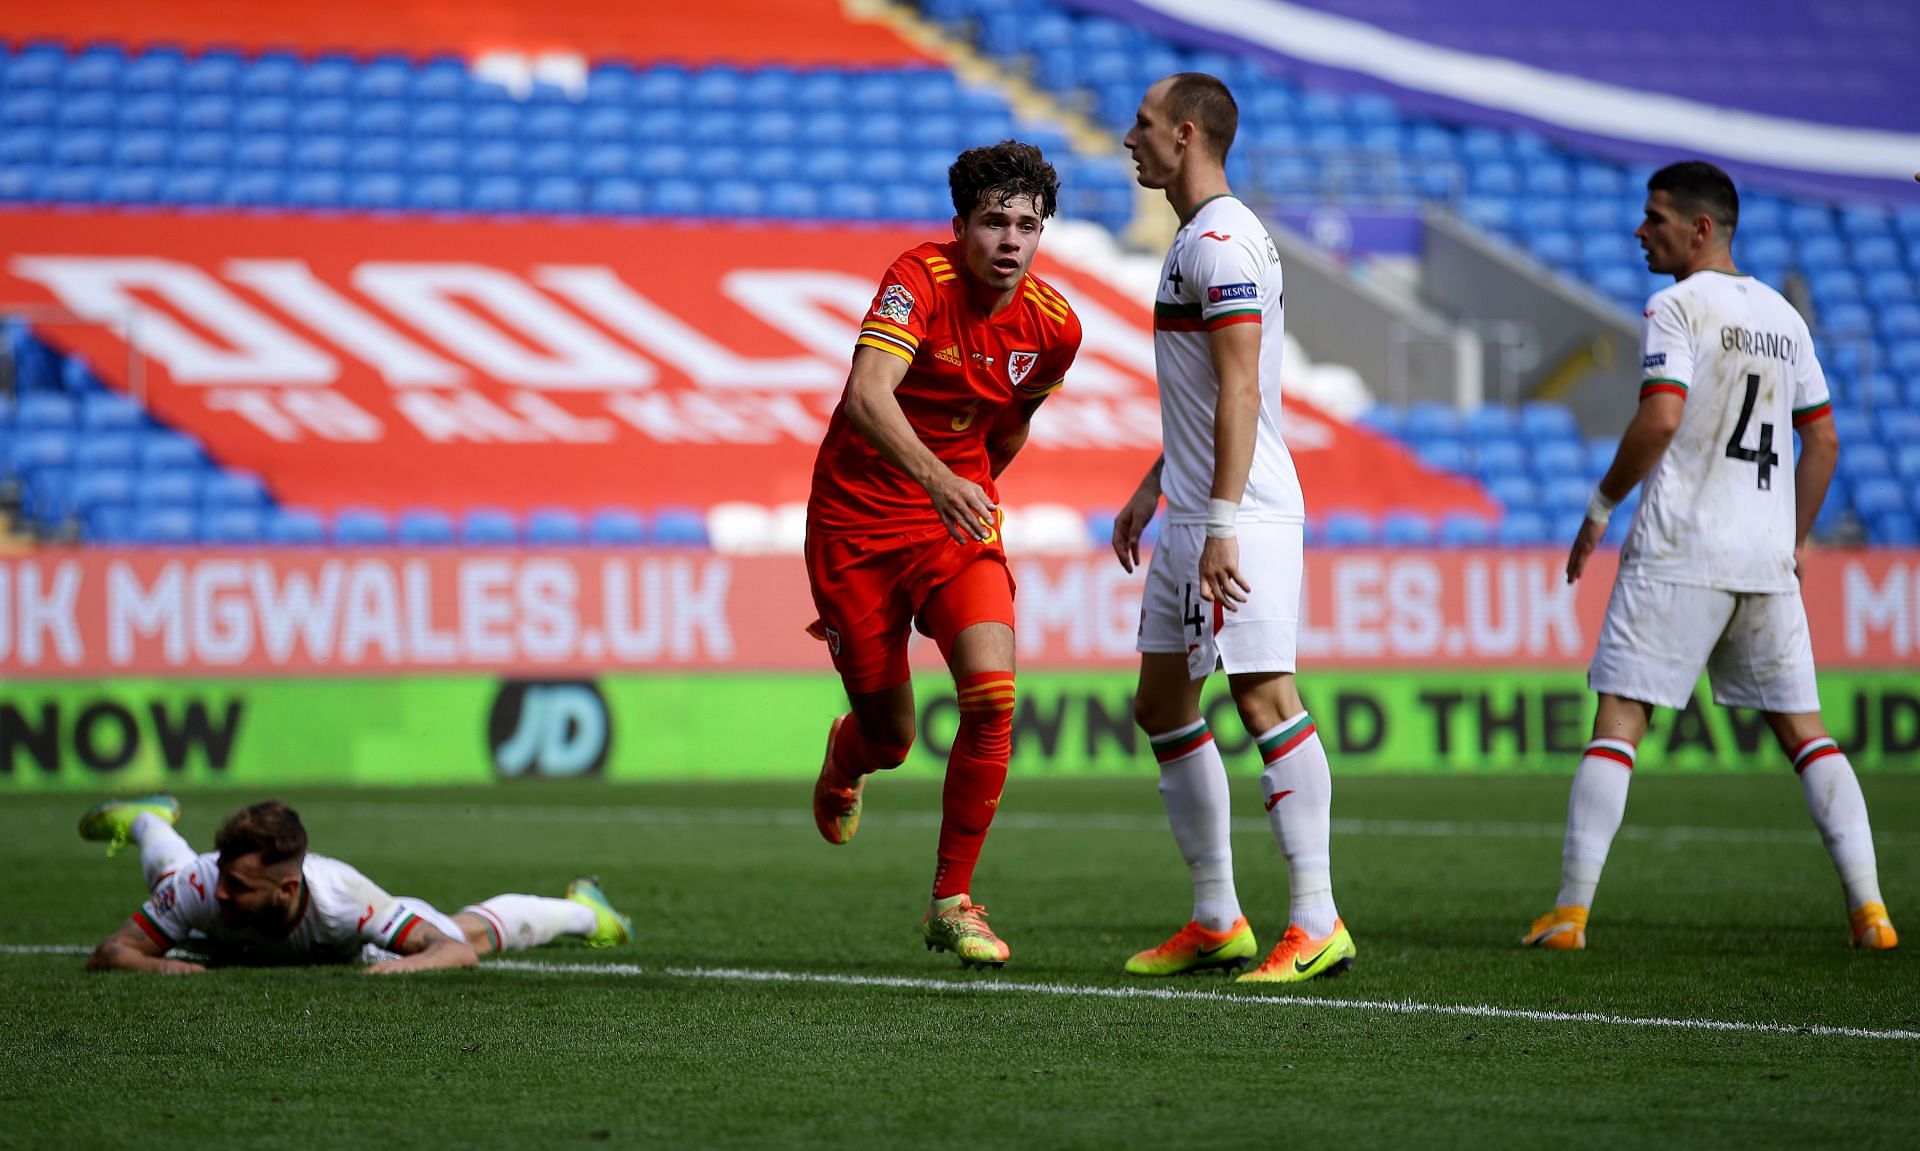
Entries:
POLYGON ((1167 250, 1154 294, 1154 367, 1160 377, 1160 490, 1167 523, 1206 523, 1213 490, 1213 409, 1219 377, 1208 332, 1261 325, 1260 423, 1240 519, 1304 523, 1294 459, 1281 438, 1281 254, 1260 217, 1233 196, 1200 204, 1167 250))

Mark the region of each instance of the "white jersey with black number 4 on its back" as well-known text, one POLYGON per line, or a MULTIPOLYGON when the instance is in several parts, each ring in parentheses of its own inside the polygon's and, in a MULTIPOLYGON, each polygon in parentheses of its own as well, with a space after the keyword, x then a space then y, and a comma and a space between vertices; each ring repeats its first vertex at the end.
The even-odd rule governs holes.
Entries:
POLYGON ((1753 277, 1699 271, 1647 300, 1640 394, 1686 396, 1620 571, 1793 592, 1793 432, 1830 415, 1807 321, 1753 277))

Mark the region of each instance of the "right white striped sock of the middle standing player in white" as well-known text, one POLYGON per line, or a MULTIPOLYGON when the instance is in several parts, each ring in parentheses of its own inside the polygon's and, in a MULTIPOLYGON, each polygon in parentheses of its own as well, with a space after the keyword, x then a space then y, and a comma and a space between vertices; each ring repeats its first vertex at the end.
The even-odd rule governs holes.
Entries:
POLYGON ((1327 749, 1306 711, 1254 740, 1267 763, 1260 772, 1260 796, 1273 840, 1286 857, 1292 888, 1286 918, 1315 940, 1327 938, 1340 918, 1332 903, 1332 769, 1327 749))

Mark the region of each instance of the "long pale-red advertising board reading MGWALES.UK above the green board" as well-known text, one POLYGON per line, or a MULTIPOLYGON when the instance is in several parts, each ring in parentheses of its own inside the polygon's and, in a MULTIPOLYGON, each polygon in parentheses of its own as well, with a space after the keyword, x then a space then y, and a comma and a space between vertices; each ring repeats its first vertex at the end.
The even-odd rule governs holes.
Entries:
MULTIPOLYGON (((1300 663, 1580 667, 1613 557, 1309 551, 1300 663)), ((1125 667, 1140 575, 1014 561, 1023 667, 1125 667)), ((1258 576, 1256 576, 1258 578, 1258 576)), ((1805 580, 1826 669, 1920 665, 1920 553, 1805 580)), ((0 678, 828 669, 799 557, 707 551, 44 551, 0 561, 0 678)), ((937 663, 931 644, 922 663, 937 663)))

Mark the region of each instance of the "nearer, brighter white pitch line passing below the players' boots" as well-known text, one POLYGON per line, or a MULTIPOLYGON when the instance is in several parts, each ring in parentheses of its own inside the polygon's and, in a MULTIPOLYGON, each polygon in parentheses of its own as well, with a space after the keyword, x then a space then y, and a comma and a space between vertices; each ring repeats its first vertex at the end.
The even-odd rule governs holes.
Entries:
MULTIPOLYGON (((48 943, 0 943, 0 955, 90 955, 92 947, 48 943)), ((1187 992, 1179 988, 1100 988, 1081 984, 1023 984, 981 978, 972 982, 929 980, 922 976, 822 974, 810 970, 755 970, 749 967, 659 967, 637 963, 540 963, 532 959, 492 959, 490 970, 524 970, 561 976, 668 976, 676 980, 728 980, 745 984, 828 984, 839 988, 889 988, 906 992, 1056 995, 1085 999, 1156 999, 1177 1003, 1240 1003, 1254 1007, 1306 1007, 1323 1011, 1380 1011, 1386 1015, 1453 1015, 1463 1018, 1511 1018, 1523 1022, 1584 1022, 1622 1028, 1670 1028, 1682 1032, 1740 1032, 1759 1036, 1816 1036, 1847 1040, 1920 1040, 1920 1032, 1899 1028, 1841 1028, 1828 1024, 1741 1022, 1726 1018, 1665 1018, 1607 1015, 1603 1011, 1530 1011, 1490 1003, 1417 1003, 1413 999, 1332 999, 1319 995, 1233 995, 1227 992, 1187 992)))

